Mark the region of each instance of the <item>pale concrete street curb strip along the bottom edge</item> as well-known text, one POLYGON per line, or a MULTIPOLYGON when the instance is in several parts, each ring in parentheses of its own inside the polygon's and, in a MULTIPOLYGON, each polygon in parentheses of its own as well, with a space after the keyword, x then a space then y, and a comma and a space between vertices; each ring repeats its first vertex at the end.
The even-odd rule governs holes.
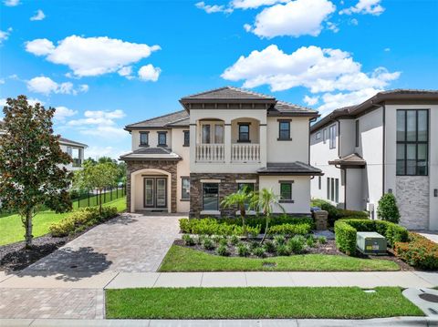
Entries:
POLYGON ((270 319, 270 320, 55 320, 0 319, 0 327, 342 327, 342 326, 438 326, 426 317, 394 317, 366 320, 270 319))

